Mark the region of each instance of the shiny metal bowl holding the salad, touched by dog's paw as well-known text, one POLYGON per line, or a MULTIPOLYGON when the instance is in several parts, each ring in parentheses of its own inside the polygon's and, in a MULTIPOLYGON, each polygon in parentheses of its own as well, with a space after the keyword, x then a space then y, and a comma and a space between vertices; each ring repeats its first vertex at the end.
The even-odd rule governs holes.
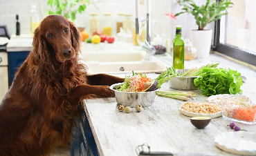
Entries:
POLYGON ((123 83, 113 84, 109 88, 115 92, 116 102, 118 105, 136 107, 151 106, 156 97, 156 90, 150 92, 121 92, 116 90, 123 83))

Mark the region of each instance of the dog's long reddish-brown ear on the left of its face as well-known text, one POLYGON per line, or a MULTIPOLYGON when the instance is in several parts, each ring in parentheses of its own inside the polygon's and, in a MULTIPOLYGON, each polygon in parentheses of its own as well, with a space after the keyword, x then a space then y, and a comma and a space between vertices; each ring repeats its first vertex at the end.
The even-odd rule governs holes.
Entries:
POLYGON ((48 61, 49 56, 48 56, 48 50, 46 46, 46 41, 44 37, 42 37, 42 33, 37 27, 34 32, 34 37, 33 37, 33 59, 35 64, 39 64, 42 61, 48 61))

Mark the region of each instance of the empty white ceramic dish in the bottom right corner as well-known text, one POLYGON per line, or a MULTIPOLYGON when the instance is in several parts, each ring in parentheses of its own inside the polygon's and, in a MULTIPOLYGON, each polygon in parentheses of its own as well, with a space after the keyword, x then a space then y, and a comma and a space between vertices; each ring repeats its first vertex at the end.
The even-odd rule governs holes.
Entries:
POLYGON ((244 131, 217 135, 214 142, 218 148, 236 155, 256 155, 256 133, 244 131))

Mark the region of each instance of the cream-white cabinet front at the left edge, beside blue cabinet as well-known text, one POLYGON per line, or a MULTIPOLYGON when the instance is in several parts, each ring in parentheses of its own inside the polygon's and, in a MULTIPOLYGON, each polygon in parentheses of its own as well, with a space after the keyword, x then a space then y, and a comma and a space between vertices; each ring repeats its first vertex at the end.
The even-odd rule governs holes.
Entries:
POLYGON ((8 92, 8 68, 0 66, 0 103, 8 92))

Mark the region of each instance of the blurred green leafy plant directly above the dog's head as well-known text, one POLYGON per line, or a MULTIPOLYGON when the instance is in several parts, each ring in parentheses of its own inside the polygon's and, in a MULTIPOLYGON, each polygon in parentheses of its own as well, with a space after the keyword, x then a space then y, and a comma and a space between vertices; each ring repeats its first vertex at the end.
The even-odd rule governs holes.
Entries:
POLYGON ((82 13, 91 3, 89 0, 48 0, 51 7, 47 14, 62 14, 66 19, 75 20, 77 12, 82 13))

